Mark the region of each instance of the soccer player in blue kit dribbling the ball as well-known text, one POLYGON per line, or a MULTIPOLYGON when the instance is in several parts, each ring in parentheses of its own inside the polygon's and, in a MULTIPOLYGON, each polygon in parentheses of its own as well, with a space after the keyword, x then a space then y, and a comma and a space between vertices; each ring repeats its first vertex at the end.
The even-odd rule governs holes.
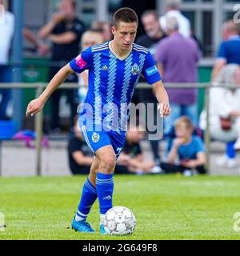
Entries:
POLYGON ((78 232, 95 232, 86 217, 98 198, 100 232, 106 233, 103 219, 113 206, 114 167, 126 137, 126 126, 122 123, 128 119, 128 106, 141 74, 153 86, 162 117, 170 114, 168 96, 153 57, 149 50, 134 44, 137 29, 138 17, 134 10, 117 10, 111 27, 114 39, 82 51, 63 66, 46 90, 27 106, 26 116, 37 114, 70 74, 89 70, 89 89, 78 123, 86 143, 94 152, 94 162, 72 221, 72 228, 78 232))

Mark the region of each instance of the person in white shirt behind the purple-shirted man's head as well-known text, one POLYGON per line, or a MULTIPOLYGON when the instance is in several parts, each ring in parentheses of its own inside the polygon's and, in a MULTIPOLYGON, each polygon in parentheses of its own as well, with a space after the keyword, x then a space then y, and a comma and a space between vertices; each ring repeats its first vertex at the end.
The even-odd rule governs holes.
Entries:
POLYGON ((190 38, 190 21, 180 11, 181 0, 166 0, 166 14, 160 18, 160 26, 164 32, 167 30, 167 17, 174 17, 179 24, 179 33, 185 38, 190 38))

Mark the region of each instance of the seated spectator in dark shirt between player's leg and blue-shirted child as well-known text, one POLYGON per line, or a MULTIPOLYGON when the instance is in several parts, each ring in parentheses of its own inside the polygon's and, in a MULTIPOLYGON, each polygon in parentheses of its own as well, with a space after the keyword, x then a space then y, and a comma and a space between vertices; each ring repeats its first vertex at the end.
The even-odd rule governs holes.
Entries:
POLYGON ((126 132, 126 142, 117 160, 115 173, 161 173, 159 166, 154 166, 153 161, 145 161, 143 159, 140 142, 144 136, 141 126, 130 126, 126 132))

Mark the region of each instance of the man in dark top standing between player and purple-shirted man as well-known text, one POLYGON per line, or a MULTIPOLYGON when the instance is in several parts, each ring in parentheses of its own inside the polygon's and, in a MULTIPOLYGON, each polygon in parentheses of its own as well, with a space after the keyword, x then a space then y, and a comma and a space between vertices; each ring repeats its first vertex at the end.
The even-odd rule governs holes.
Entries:
MULTIPOLYGON (((141 17, 142 25, 146 34, 143 34, 138 40, 136 41, 137 44, 140 46, 146 47, 150 50, 151 54, 156 54, 158 42, 165 38, 165 34, 162 33, 159 24, 159 15, 156 10, 146 10, 141 17)), ((157 106, 157 99, 153 94, 152 90, 138 90, 134 93, 134 102, 144 102, 144 103, 154 103, 154 106, 157 106), (138 98, 138 99, 137 99, 138 98)), ((149 125, 156 123, 158 110, 154 110, 154 114, 149 116, 149 125)), ((151 129, 154 130, 154 129, 151 129)), ((154 154, 154 161, 156 165, 160 163, 160 156, 158 150, 158 140, 150 140, 150 145, 152 147, 152 152, 154 154)))

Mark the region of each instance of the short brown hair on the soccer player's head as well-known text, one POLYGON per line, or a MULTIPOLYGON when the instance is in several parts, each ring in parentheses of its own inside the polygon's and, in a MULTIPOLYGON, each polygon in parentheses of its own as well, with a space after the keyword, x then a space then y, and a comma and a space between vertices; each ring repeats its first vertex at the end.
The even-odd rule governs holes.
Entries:
POLYGON ((136 22, 138 25, 138 16, 133 9, 124 7, 115 12, 112 25, 116 29, 118 29, 120 22, 125 22, 125 23, 136 22))

